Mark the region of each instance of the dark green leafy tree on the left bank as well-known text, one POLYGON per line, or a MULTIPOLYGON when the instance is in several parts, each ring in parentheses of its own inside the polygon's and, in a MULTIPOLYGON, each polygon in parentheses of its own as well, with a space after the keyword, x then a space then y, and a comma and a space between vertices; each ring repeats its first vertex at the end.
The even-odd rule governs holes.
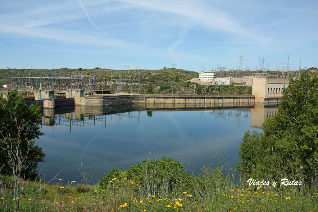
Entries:
POLYGON ((0 97, 0 114, 1 173, 12 174, 13 161, 19 160, 20 177, 35 179, 38 162, 43 162, 45 156, 33 140, 43 134, 38 126, 42 117, 40 106, 32 104, 27 108, 23 97, 15 90, 7 99, 0 97))

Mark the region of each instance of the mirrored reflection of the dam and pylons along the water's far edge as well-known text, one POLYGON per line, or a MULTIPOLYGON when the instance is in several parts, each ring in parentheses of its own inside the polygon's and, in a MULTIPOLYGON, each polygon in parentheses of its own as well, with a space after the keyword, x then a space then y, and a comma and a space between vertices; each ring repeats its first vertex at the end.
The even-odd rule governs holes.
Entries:
POLYGON ((191 111, 198 109, 201 111, 200 116, 209 114, 212 117, 213 115, 216 121, 234 118, 238 128, 240 127, 241 119, 245 120, 248 118, 249 111, 251 110, 251 127, 262 128, 262 123, 267 117, 276 115, 277 104, 241 103, 235 106, 233 106, 233 104, 216 104, 213 107, 203 108, 191 106, 178 106, 175 108, 175 105, 156 104, 147 106, 147 109, 145 109, 144 106, 139 105, 107 107, 75 106, 56 109, 45 108, 43 109, 42 124, 46 126, 65 125, 69 126, 70 131, 72 131, 72 125, 84 127, 84 124, 95 125, 96 122, 103 122, 106 127, 107 118, 113 119, 113 115, 118 120, 118 123, 120 123, 123 118, 127 118, 129 122, 131 122, 132 119, 137 119, 139 123, 140 111, 171 111, 171 116, 173 116, 173 111, 191 111), (106 117, 107 115, 111 116, 106 117))

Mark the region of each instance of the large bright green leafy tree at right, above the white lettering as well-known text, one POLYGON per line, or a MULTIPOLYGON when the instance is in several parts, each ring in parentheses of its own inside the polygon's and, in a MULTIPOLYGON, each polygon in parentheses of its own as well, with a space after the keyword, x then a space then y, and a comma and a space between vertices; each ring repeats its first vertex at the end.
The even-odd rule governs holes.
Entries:
POLYGON ((302 73, 284 89, 278 113, 264 122, 264 133, 245 134, 240 147, 245 176, 271 173, 298 177, 309 182, 318 171, 318 78, 302 73), (252 134, 253 135, 253 134, 252 134), (249 139, 252 142, 245 142, 249 139), (254 148, 248 150, 248 148, 254 148), (253 159, 256 158, 256 161, 253 159), (251 168, 251 166, 255 168, 251 168), (245 169, 245 170, 244 170, 245 169), (273 171, 274 170, 274 171, 273 171))

